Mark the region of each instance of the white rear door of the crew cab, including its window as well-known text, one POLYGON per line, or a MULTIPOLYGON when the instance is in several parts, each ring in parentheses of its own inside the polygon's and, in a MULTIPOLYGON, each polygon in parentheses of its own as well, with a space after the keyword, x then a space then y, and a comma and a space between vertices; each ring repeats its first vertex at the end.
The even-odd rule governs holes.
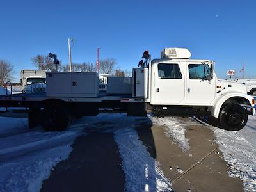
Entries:
POLYGON ((179 62, 155 63, 152 76, 152 104, 180 104, 185 99, 185 77, 179 62))

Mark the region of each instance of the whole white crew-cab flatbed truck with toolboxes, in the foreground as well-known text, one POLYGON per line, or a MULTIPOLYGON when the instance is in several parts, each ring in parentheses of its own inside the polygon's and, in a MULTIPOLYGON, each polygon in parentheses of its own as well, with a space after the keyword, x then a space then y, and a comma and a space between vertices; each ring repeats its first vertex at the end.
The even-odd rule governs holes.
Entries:
POLYGON ((46 94, 1 96, 0 106, 29 107, 29 127, 41 124, 47 131, 65 129, 71 116, 115 112, 128 116, 208 115, 217 118, 223 129, 242 129, 248 115, 255 113, 255 100, 247 95, 246 86, 218 80, 214 61, 190 57, 184 48, 166 48, 154 60, 145 51, 139 68, 132 70, 132 90, 125 95, 100 94, 97 73, 47 72, 46 94))

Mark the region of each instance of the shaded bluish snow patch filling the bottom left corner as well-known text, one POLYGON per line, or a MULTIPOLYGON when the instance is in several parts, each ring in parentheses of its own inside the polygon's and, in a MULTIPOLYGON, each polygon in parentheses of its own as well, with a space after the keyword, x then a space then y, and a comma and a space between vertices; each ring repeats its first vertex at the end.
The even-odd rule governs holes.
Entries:
POLYGON ((0 166, 1 191, 40 191, 42 181, 50 176, 56 164, 68 159, 71 150, 70 145, 65 145, 0 166))

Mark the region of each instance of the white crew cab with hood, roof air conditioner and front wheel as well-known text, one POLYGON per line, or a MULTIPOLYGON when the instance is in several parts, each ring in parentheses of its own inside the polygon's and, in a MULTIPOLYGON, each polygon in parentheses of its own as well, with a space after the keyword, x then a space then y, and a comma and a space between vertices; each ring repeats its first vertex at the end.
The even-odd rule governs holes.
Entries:
POLYGON ((210 115, 218 118, 225 129, 242 129, 248 115, 255 113, 255 101, 247 95, 246 86, 220 81, 214 61, 190 57, 184 48, 166 48, 161 58, 154 60, 143 54, 145 61, 139 65, 148 68, 148 83, 144 84, 149 84, 147 99, 154 115, 210 115))

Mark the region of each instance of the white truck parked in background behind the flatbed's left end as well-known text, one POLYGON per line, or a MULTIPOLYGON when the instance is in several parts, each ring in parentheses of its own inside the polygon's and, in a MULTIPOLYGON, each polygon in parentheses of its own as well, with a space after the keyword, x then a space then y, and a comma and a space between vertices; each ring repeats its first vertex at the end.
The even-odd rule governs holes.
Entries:
POLYGON ((20 83, 23 93, 45 92, 46 70, 21 70, 20 83))

